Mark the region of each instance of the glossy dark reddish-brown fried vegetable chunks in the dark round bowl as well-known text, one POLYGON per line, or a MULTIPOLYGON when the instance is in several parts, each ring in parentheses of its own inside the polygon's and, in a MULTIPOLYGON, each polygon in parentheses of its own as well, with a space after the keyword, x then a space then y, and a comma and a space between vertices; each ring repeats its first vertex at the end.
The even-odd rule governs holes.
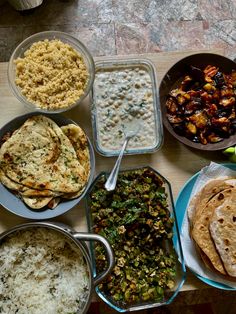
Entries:
POLYGON ((174 131, 193 142, 218 143, 236 132, 236 71, 213 65, 189 73, 167 97, 167 118, 174 131))

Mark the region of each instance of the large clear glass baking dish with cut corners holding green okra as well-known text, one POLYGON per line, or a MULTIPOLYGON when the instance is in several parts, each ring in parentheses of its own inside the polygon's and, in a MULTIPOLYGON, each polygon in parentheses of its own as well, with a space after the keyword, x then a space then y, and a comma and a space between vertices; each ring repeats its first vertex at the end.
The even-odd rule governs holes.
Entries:
MULTIPOLYGON (((133 168, 133 169, 127 169, 123 170, 120 173, 125 173, 129 171, 134 171, 134 170, 141 170, 141 169, 147 169, 150 170, 152 173, 155 174, 158 178, 160 178, 163 182, 163 187, 165 188, 165 193, 167 195, 167 206, 170 212, 170 216, 173 218, 173 238, 169 240, 165 240, 165 248, 167 252, 172 253, 174 255, 175 259, 175 271, 176 271, 176 276, 175 276, 175 282, 174 282, 174 287, 172 289, 165 290, 163 299, 160 301, 149 301, 149 302, 136 302, 130 305, 120 305, 118 302, 114 301, 107 293, 101 290, 99 286, 95 288, 97 294, 99 297, 107 303, 110 307, 115 309, 118 312, 130 312, 130 311, 136 311, 136 310, 146 310, 149 308, 154 308, 154 307, 159 307, 163 305, 170 304, 174 298, 177 296, 178 292, 180 291, 181 287, 184 284, 185 278, 186 278, 186 268, 185 268, 185 263, 184 263, 184 258, 183 258, 183 252, 182 252, 182 247, 181 247, 181 242, 180 242, 180 235, 179 235, 179 230, 178 230, 178 225, 177 225, 177 219, 176 219, 176 213, 175 213, 175 208, 174 208, 174 202, 173 202, 173 196, 172 196, 172 191, 171 191, 171 185, 170 183, 155 169, 149 167, 149 166, 144 166, 141 168, 133 168)), ((107 172, 101 172, 92 185, 90 186, 88 193, 85 197, 86 201, 86 214, 87 214, 87 221, 88 221, 88 228, 89 232, 96 232, 96 228, 98 225, 94 224, 94 221, 92 219, 92 210, 91 210, 91 193, 93 192, 93 189, 95 185, 98 183, 98 181, 101 178, 106 179, 109 176, 109 173, 107 172)), ((137 183, 138 184, 138 183, 137 183)), ((111 193, 111 192, 109 192, 111 193)), ((103 197, 102 194, 97 192, 97 195, 100 195, 100 197, 103 197)), ((113 196, 111 195, 111 198, 113 196)), ((112 198, 113 199, 113 198, 112 198)), ((115 199, 113 199, 115 201, 115 199)), ((104 204, 106 200, 103 200, 104 204)), ((96 205, 95 205, 96 206, 96 205)), ((110 208, 109 205, 107 205, 107 208, 110 208)), ((106 206, 104 205, 104 209, 106 206)), ((111 216, 114 217, 114 216, 111 216)), ((106 219, 104 219, 104 226, 106 226, 106 219)), ((127 225, 126 225, 127 226, 127 225)), ((137 228, 137 227, 136 227, 137 228)), ((104 231, 102 230, 103 235, 105 234, 104 231)), ((95 248, 94 245, 91 244, 91 257, 92 257, 92 265, 93 265, 93 272, 94 274, 97 273, 96 269, 96 254, 95 254, 95 248)), ((115 252, 116 255, 116 252, 115 252)), ((101 257, 100 257, 101 258, 101 257)), ((116 261, 117 261, 116 257, 116 261)))

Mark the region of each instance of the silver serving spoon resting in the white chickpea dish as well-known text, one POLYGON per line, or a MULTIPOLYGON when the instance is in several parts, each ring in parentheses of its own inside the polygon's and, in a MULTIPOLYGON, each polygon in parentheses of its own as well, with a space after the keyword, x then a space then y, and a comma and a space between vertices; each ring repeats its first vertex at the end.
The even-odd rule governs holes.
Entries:
POLYGON ((124 143, 121 147, 119 156, 116 160, 116 163, 105 183, 105 189, 107 191, 113 191, 116 188, 116 182, 117 182, 117 177, 118 177, 118 173, 119 173, 119 169, 120 169, 120 164, 121 164, 121 160, 123 158, 126 146, 129 142, 129 140, 134 137, 140 129, 140 122, 136 119, 132 120, 129 125, 126 126, 126 128, 124 128, 124 134, 125 134, 125 140, 124 143))

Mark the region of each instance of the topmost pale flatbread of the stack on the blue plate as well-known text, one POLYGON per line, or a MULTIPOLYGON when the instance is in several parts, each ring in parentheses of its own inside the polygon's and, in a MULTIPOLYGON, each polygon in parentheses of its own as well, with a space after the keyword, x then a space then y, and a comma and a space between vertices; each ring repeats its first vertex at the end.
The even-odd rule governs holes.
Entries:
POLYGON ((209 228, 227 273, 236 277, 236 189, 215 208, 209 228))

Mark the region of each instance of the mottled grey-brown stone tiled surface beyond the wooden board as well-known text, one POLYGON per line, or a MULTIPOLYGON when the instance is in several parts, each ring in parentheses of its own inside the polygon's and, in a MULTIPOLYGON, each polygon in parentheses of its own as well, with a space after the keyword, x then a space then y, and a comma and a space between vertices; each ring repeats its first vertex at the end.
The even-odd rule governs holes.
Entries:
POLYGON ((236 58, 236 0, 44 0, 24 13, 0 0, 0 61, 43 30, 71 33, 94 56, 221 47, 236 58))

